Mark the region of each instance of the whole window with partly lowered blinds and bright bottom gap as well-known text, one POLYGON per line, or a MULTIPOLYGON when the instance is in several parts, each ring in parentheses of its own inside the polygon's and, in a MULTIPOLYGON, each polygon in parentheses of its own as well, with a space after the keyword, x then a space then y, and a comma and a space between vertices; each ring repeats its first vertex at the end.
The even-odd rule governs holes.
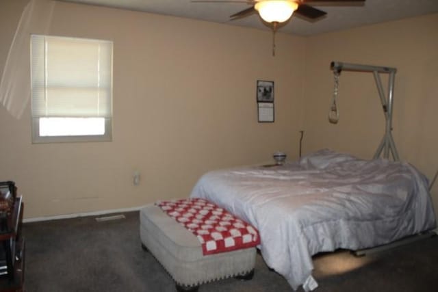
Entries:
POLYGON ((32 141, 112 140, 112 42, 31 36, 32 141))

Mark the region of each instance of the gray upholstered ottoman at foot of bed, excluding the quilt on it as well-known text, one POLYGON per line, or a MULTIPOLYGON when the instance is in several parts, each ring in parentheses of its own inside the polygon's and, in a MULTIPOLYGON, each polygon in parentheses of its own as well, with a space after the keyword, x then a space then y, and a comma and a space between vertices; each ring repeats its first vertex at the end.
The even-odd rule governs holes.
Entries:
POLYGON ((200 284, 223 278, 253 278, 255 248, 203 255, 198 238, 155 204, 140 210, 140 239, 175 280, 177 291, 197 291, 200 284))

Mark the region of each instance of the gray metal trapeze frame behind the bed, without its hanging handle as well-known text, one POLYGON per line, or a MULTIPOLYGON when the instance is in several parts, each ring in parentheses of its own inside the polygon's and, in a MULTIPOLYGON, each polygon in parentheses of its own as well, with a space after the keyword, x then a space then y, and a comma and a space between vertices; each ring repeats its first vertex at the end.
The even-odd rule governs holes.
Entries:
POLYGON ((372 72, 374 75, 374 81, 376 81, 376 87, 378 96, 381 98, 383 107, 383 114, 385 115, 385 135, 383 136, 381 144, 379 144, 374 159, 380 157, 383 152, 383 158, 389 159, 389 152, 391 152, 394 161, 399 161, 396 143, 392 137, 392 108, 394 104, 394 82, 396 80, 396 68, 383 67, 383 66, 370 66, 360 64, 349 64, 343 62, 331 62, 331 70, 333 73, 339 74, 342 70, 356 71, 356 72, 372 72), (387 96, 383 90, 383 85, 379 73, 389 74, 388 79, 388 92, 387 96))

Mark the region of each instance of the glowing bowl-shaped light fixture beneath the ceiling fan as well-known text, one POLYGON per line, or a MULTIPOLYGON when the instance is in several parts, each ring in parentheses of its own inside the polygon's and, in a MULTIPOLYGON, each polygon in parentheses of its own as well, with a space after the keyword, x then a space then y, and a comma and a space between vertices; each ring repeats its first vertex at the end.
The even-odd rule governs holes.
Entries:
POLYGON ((298 3, 290 0, 262 0, 255 3, 254 7, 263 21, 284 23, 298 9, 298 3))

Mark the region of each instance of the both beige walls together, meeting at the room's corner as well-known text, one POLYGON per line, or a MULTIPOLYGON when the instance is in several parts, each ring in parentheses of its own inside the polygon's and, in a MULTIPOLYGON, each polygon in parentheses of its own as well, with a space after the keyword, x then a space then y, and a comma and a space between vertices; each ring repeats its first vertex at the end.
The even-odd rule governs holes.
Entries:
MULTIPOLYGON (((26 2, 0 3, 0 72, 26 2)), ((436 27, 438 14, 311 38, 279 34, 272 57, 269 31, 56 2, 50 34, 114 40, 114 140, 31 144, 29 107, 20 120, 0 107, 0 178, 16 181, 31 218, 185 197, 207 170, 268 161, 275 150, 295 159, 301 129, 305 152, 372 157, 384 129, 374 80, 343 72, 341 117, 330 124, 333 60, 398 68, 394 139, 400 157, 432 178, 436 27), (257 79, 275 81, 273 124, 257 123, 257 79)), ((437 206, 437 185, 433 196, 437 206)))

